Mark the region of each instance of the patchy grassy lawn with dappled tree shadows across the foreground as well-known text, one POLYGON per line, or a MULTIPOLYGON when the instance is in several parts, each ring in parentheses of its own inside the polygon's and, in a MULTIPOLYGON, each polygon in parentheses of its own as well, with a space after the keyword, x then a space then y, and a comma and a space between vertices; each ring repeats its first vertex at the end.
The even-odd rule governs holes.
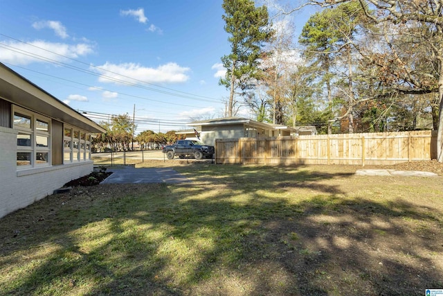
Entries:
POLYGON ((0 295, 424 295, 443 288, 443 178, 188 164, 0 219, 0 295))

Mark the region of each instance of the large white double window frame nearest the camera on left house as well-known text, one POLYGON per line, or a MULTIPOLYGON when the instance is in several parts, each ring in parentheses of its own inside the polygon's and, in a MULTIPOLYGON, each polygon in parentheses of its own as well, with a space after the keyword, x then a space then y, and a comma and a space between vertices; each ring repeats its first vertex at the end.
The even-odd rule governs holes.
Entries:
MULTIPOLYGON (((19 159, 17 159, 17 170, 51 166, 51 119, 46 116, 42 116, 41 114, 21 108, 17 105, 13 105, 12 121, 14 121, 16 114, 26 116, 30 119, 30 128, 24 128, 15 125, 15 123, 12 122, 12 127, 17 130, 19 134, 26 134, 30 136, 30 146, 21 146, 17 144, 17 155, 18 153, 30 153, 30 161, 27 165, 18 165, 19 159), (37 121, 47 123, 48 130, 38 130, 37 121), (47 146, 37 146, 37 137, 45 137, 47 139, 47 146), (44 159, 44 162, 39 162, 37 156, 44 159)), ((17 134, 17 139, 19 134, 17 134)))

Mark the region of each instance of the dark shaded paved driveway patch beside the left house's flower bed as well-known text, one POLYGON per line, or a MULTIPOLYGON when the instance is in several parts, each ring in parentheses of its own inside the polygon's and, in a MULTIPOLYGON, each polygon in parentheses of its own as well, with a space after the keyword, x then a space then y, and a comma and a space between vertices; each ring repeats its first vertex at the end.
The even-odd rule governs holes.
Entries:
POLYGON ((190 182, 172 168, 134 168, 122 166, 108 169, 112 174, 100 184, 181 183, 190 182))

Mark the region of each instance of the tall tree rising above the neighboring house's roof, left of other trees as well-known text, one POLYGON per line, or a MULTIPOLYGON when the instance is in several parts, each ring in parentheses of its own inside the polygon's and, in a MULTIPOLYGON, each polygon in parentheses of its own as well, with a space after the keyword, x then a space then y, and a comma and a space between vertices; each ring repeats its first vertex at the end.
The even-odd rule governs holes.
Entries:
POLYGON ((226 76, 220 84, 230 89, 228 116, 233 116, 235 91, 244 94, 255 84, 260 71, 257 66, 263 55, 262 45, 269 41, 273 31, 269 27, 269 15, 266 6, 255 7, 251 0, 224 0, 222 7, 226 22, 224 27, 230 35, 231 52, 221 58, 227 69, 226 76))

